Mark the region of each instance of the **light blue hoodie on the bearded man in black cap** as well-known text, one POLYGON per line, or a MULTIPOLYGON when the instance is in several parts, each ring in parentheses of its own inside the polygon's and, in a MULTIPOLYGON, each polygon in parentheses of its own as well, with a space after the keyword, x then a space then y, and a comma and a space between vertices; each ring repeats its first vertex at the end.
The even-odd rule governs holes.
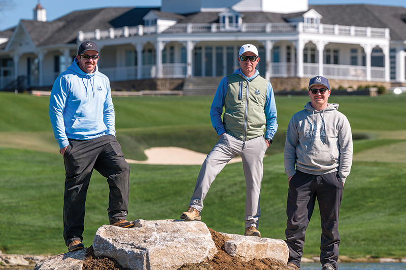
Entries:
POLYGON ((76 59, 52 87, 49 117, 59 148, 68 138, 89 140, 116 134, 109 78, 98 71, 86 73, 76 59))

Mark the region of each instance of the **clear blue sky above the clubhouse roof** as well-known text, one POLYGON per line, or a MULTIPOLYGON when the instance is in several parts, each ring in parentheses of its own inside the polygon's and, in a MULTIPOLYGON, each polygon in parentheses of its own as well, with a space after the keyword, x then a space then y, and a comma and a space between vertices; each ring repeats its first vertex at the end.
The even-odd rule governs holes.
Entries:
MULTIPOLYGON (((0 31, 16 26, 21 19, 32 20, 33 9, 38 0, 12 0, 14 5, 7 10, 0 11, 0 31)), ((2 0, 0 0, 2 2, 2 0)), ((161 0, 41 0, 41 5, 47 10, 47 20, 53 21, 75 10, 103 8, 103 7, 143 7, 160 6, 161 0), (147 4, 146 4, 147 3, 147 4)), ((405 0, 309 0, 310 5, 326 4, 371 4, 386 6, 401 6, 406 8, 405 0)))

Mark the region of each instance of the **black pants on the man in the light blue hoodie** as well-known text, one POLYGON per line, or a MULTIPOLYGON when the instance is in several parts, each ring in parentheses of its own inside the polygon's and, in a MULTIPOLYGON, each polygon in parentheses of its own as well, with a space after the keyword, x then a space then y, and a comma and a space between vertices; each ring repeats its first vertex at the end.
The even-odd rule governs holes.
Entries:
POLYGON ((63 156, 65 191, 63 197, 63 238, 66 246, 83 240, 85 202, 93 169, 109 184, 110 224, 125 219, 128 212, 129 172, 121 146, 113 135, 91 140, 69 139, 63 156))

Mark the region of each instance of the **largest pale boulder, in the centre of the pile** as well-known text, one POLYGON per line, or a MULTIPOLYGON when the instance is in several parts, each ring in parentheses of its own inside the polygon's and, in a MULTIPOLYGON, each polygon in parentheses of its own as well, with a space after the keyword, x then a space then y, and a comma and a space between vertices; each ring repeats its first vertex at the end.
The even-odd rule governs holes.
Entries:
POLYGON ((130 269, 177 269, 211 260, 217 253, 203 222, 137 220, 133 228, 103 225, 93 241, 94 255, 114 258, 130 269))

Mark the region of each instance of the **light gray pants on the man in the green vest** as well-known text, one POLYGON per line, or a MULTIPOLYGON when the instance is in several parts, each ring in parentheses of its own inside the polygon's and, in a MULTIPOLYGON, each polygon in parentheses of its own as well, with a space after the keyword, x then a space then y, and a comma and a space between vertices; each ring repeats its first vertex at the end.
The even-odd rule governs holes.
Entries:
POLYGON ((259 194, 263 176, 262 160, 266 149, 263 136, 244 142, 227 133, 221 135, 201 166, 189 206, 201 211, 203 200, 216 176, 232 158, 241 156, 246 182, 245 227, 258 227, 261 215, 259 194))

